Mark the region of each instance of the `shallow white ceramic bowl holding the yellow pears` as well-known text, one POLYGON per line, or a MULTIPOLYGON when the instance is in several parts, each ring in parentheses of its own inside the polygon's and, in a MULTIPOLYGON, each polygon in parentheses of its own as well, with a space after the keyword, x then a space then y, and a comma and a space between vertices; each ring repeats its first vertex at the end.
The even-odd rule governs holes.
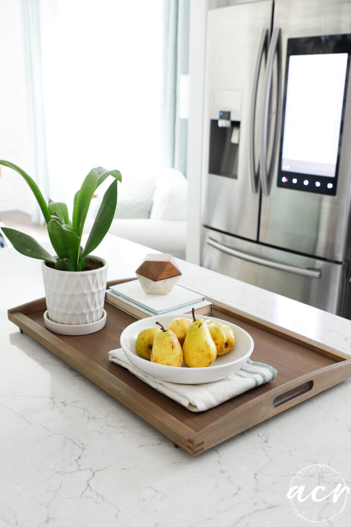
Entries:
POLYGON ((135 350, 135 341, 138 333, 147 327, 160 322, 165 328, 176 316, 192 319, 192 315, 158 315, 156 317, 143 318, 127 326, 121 335, 121 346, 129 361, 141 372, 151 375, 160 380, 167 380, 178 384, 202 384, 212 383, 223 379, 240 369, 250 357, 254 349, 254 341, 245 329, 231 324, 225 320, 214 317, 200 316, 203 320, 219 320, 232 327, 235 335, 235 346, 226 355, 218 356, 212 366, 206 368, 189 368, 183 362, 180 368, 176 366, 164 366, 155 364, 150 360, 138 355, 135 350))

